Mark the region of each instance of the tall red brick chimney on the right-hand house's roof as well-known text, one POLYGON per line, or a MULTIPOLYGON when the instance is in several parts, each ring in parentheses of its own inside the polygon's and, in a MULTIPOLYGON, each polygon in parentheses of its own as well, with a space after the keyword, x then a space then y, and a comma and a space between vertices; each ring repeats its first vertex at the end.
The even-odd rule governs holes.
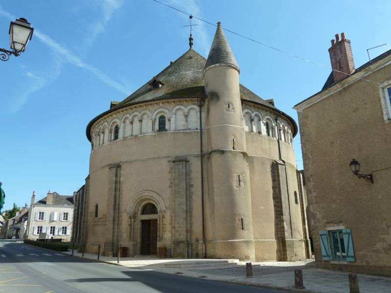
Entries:
POLYGON ((352 74, 356 70, 354 68, 350 40, 345 39, 345 33, 341 33, 341 40, 338 34, 335 35, 335 41, 331 40, 331 47, 328 49, 328 53, 330 54, 334 83, 348 76, 344 73, 352 74))

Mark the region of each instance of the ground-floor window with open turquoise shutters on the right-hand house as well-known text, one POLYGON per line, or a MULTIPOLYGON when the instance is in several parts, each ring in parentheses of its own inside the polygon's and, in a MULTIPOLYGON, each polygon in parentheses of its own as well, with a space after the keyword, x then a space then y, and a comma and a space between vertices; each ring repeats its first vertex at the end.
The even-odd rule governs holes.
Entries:
POLYGON ((355 261, 350 229, 319 231, 319 237, 323 260, 355 261))

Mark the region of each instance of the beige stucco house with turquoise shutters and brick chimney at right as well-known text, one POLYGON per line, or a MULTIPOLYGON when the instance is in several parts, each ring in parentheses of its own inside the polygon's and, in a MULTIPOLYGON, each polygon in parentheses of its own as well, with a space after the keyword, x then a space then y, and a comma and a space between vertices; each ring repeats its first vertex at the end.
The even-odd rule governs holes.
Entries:
POLYGON ((331 42, 333 72, 294 107, 316 266, 390 276, 391 50, 356 69, 345 35, 331 42))

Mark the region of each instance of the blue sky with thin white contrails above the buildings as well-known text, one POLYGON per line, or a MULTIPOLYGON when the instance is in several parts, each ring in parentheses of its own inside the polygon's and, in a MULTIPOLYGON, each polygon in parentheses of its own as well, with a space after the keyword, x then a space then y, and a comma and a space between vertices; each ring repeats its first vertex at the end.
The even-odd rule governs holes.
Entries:
MULTIPOLYGON (((335 34, 351 40, 356 67, 391 48, 390 1, 161 0, 270 46, 330 66, 335 34)), ((70 195, 88 175, 88 122, 122 101, 188 50, 188 16, 152 0, 4 1, 0 47, 9 22, 26 18, 34 35, 22 56, 0 63, 0 181, 4 209, 46 192, 70 195)), ((195 50, 207 57, 216 27, 193 19, 195 50)), ((226 32, 240 83, 292 107, 318 92, 330 70, 226 32)), ((300 135, 294 139, 302 168, 300 135)))

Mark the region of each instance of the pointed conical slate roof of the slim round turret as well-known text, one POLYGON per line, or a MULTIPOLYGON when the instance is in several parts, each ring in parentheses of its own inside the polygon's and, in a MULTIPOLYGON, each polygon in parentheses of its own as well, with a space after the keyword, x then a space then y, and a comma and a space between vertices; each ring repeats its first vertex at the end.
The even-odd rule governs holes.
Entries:
POLYGON ((212 42, 211 50, 209 51, 208 59, 206 60, 206 64, 204 67, 204 73, 208 69, 208 67, 224 64, 228 66, 232 66, 240 72, 238 63, 235 60, 234 54, 225 38, 223 29, 221 27, 221 22, 217 22, 217 29, 215 38, 212 42))

